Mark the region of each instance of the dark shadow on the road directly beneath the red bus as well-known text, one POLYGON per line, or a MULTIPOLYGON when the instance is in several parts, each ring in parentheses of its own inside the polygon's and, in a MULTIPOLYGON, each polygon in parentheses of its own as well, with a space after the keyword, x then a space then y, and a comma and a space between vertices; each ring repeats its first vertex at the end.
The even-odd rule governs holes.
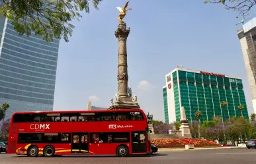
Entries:
MULTIPOLYGON (((129 155, 127 157, 161 157, 161 156, 167 156, 167 154, 165 153, 155 153, 153 155, 129 155)), ((17 156, 11 156, 13 158, 44 158, 43 156, 39 156, 39 157, 28 157, 26 155, 17 155, 17 156)), ((116 155, 62 155, 62 156, 55 156, 54 158, 70 158, 70 157, 115 157, 115 158, 125 158, 125 157, 118 157, 116 155)), ((50 159, 48 157, 45 157, 46 159, 50 159)))

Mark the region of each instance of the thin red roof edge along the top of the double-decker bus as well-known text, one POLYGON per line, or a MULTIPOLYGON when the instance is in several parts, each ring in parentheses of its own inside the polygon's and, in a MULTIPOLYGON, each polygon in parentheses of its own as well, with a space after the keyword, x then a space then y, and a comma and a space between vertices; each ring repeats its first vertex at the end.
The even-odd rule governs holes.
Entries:
MULTIPOLYGON (((117 112, 117 111, 143 111, 142 109, 114 109, 114 110, 97 110, 97 111, 18 111, 15 114, 34 114, 34 113, 100 113, 100 112, 117 112)), ((144 112, 144 111, 143 111, 144 112)))

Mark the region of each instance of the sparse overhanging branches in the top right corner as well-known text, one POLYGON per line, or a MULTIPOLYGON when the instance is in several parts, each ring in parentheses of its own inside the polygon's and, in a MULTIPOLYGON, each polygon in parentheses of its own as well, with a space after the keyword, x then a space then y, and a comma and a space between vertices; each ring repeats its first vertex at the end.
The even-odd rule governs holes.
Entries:
POLYGON ((222 3, 228 10, 238 11, 239 14, 245 15, 249 13, 255 6, 255 0, 207 0, 204 3, 222 3))

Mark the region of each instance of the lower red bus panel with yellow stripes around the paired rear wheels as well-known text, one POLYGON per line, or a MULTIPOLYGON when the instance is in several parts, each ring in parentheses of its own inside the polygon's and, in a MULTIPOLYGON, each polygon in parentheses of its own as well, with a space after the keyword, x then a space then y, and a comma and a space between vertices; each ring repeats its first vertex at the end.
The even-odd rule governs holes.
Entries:
POLYGON ((44 153, 44 148, 46 146, 53 146, 55 149, 55 154, 56 155, 69 155, 71 154, 71 145, 70 144, 36 144, 36 143, 31 143, 31 144, 17 144, 17 154, 26 154, 27 151, 29 150, 30 146, 37 146, 39 150, 39 155, 43 155, 44 153))

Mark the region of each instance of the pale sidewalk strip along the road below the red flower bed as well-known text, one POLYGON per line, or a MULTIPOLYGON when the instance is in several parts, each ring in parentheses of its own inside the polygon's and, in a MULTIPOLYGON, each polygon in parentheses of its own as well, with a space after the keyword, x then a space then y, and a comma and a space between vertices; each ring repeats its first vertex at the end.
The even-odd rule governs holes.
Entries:
MULTIPOLYGON (((204 147, 204 148, 194 148, 191 150, 224 150, 224 149, 242 149, 241 147, 237 146, 224 146, 224 147, 204 147)), ((191 150, 185 150, 185 148, 159 148, 158 152, 164 152, 164 151, 191 151, 191 150)))

